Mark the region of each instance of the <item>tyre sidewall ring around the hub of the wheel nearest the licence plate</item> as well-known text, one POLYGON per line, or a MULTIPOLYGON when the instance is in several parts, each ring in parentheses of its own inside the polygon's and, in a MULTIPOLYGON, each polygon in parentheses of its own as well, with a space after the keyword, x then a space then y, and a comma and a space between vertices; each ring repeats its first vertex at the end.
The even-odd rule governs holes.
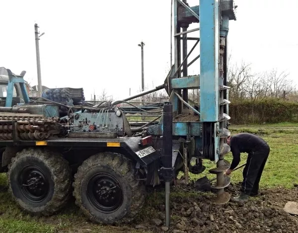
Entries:
POLYGON ((113 223, 118 220, 121 220, 130 210, 132 202, 132 191, 129 183, 124 176, 120 175, 117 171, 114 171, 111 167, 105 165, 99 165, 94 168, 91 168, 83 176, 80 185, 80 196, 82 206, 85 208, 84 211, 88 212, 88 215, 91 215, 91 219, 98 223, 113 223), (123 202, 121 206, 112 213, 103 213, 96 209, 90 200, 87 197, 87 185, 91 177, 97 173, 107 173, 112 175, 121 185, 123 191, 123 202))

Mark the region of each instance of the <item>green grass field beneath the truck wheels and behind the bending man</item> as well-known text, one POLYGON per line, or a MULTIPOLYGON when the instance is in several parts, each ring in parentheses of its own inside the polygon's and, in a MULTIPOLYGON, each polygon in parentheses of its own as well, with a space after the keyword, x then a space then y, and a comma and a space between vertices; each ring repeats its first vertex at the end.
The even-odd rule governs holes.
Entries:
MULTIPOLYGON (((266 125, 267 126, 267 125, 266 125)), ((264 128, 265 125, 260 127, 264 128)), ((260 134, 270 145, 271 152, 265 166, 265 170, 260 182, 260 188, 291 188, 294 183, 298 183, 298 129, 293 124, 276 124, 270 125, 268 128, 259 130, 258 126, 232 126, 232 134, 237 132, 251 132, 260 134), (280 129, 279 127, 289 127, 280 129)), ((240 164, 246 162, 243 155, 240 164)), ((227 155, 226 159, 231 161, 231 155, 227 155)), ((208 170, 215 167, 215 164, 204 161, 207 167, 206 171, 200 175, 190 175, 195 180, 204 175, 213 177, 208 174, 208 170)), ((232 182, 242 180, 242 169, 231 174, 232 182)), ((7 193, 6 175, 0 175, 0 232, 1 233, 56 233, 56 232, 133 232, 130 229, 120 227, 105 227, 94 225, 86 221, 79 209, 74 205, 74 201, 69 204, 61 213, 52 217, 31 217, 22 212, 13 199, 7 193)), ((181 193, 172 192, 172 196, 181 195, 181 193)), ((195 192, 183 193, 183 195, 197 195, 195 192)), ((163 196, 151 194, 148 197, 142 213, 147 213, 147 206, 156 201, 156 198, 163 196)), ((157 200, 158 201, 158 200, 157 200)))

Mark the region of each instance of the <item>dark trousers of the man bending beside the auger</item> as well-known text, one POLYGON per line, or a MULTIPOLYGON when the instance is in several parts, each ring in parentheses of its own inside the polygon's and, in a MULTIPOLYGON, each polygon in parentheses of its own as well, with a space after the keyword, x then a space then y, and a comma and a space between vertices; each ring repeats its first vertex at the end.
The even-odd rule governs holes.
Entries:
POLYGON ((270 147, 264 144, 248 154, 245 168, 243 169, 243 182, 241 191, 248 195, 256 195, 259 182, 269 156, 270 147))

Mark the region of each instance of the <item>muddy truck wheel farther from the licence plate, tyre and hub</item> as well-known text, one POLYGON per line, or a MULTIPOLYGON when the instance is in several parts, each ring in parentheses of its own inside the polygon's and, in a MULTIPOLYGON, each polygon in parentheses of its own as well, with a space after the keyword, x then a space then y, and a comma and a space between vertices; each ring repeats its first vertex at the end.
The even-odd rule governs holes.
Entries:
POLYGON ((60 210, 71 193, 71 171, 58 153, 24 149, 8 167, 8 186, 19 206, 34 215, 60 210))

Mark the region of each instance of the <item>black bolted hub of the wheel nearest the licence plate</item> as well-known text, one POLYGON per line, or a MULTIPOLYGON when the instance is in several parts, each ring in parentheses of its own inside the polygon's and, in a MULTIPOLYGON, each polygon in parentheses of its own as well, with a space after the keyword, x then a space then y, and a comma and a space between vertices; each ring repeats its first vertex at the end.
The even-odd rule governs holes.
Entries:
POLYGON ((99 211, 110 213, 121 206, 123 191, 113 176, 103 173, 93 175, 87 186, 87 197, 99 211))

